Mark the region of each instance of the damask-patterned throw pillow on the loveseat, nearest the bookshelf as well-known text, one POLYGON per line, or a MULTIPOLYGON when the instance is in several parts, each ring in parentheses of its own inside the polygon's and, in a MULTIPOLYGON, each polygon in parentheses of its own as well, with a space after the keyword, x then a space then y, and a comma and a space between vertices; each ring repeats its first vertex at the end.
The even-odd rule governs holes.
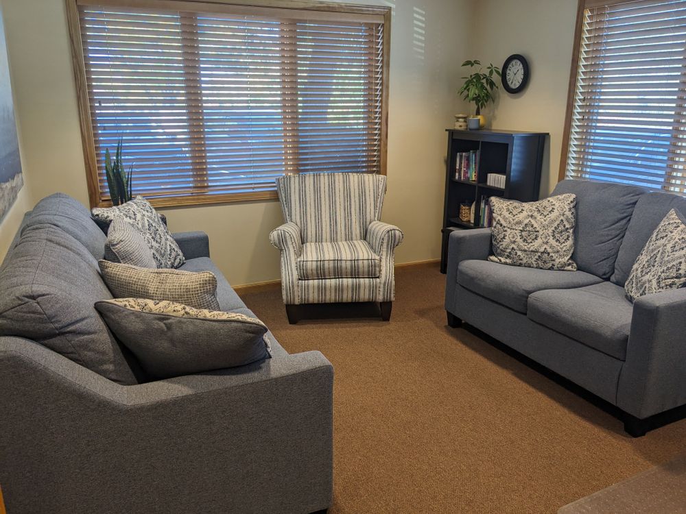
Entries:
POLYGON ((576 271, 571 260, 576 225, 576 195, 557 195, 522 203, 491 197, 493 255, 488 260, 512 266, 576 271))

